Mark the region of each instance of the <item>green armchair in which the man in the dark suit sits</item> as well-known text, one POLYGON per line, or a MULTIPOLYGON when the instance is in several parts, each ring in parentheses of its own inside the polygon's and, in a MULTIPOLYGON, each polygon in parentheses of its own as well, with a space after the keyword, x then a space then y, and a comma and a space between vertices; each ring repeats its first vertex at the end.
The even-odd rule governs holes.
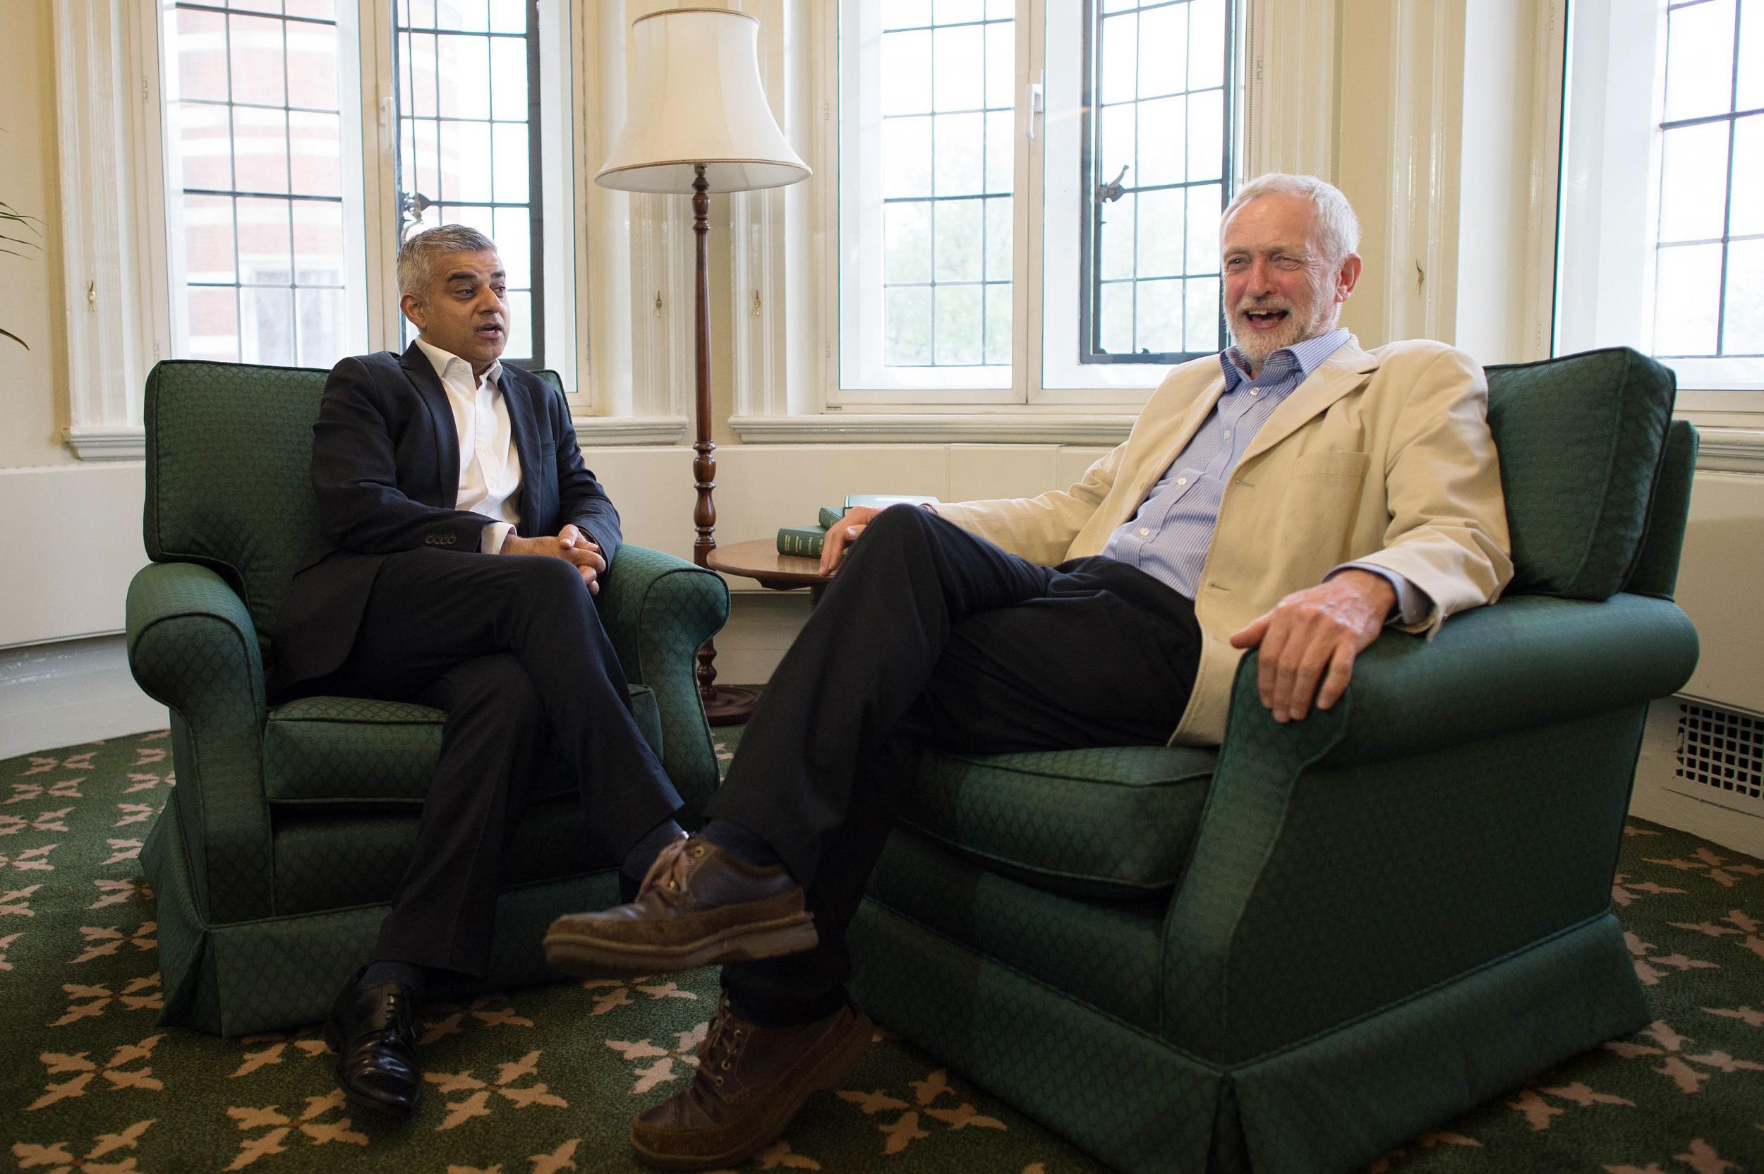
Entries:
MULTIPOLYGON (((318 532, 323 388, 321 370, 194 361, 159 363, 146 381, 152 564, 129 587, 129 666, 171 710, 178 786, 141 862, 157 899, 162 1021, 220 1035, 325 1017, 374 945, 441 751, 434 709, 265 696, 275 615, 318 532)), ((716 756, 693 654, 727 619, 729 592, 633 545, 602 582, 596 605, 639 724, 695 820, 716 756)), ((570 781, 552 763, 527 786, 492 984, 543 978, 550 920, 617 901, 616 862, 589 848, 570 781)))

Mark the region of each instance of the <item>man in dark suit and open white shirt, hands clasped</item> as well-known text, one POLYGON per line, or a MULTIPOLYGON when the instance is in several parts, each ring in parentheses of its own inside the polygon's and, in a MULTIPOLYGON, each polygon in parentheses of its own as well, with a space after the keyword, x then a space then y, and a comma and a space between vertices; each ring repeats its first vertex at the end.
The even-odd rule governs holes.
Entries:
POLYGON ((619 515, 563 398, 501 365, 505 286, 494 241, 469 227, 399 252, 420 333, 332 370, 312 428, 323 539, 277 628, 272 691, 448 714, 416 853, 325 1024, 349 1098, 399 1114, 422 1088, 411 1014, 427 982, 489 970, 501 855, 547 740, 633 881, 683 836, 594 612, 619 515))

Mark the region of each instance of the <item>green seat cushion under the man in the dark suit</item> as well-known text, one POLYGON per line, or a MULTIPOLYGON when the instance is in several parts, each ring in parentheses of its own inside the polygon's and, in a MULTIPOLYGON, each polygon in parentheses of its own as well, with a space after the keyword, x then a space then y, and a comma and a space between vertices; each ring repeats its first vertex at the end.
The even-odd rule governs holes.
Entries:
MULTIPOLYGON (((662 753, 654 691, 628 686, 637 726, 662 753)), ((446 714, 407 702, 303 696, 270 710, 263 791, 273 804, 420 804, 441 762, 446 714)), ((557 783, 564 783, 559 776, 557 783)))

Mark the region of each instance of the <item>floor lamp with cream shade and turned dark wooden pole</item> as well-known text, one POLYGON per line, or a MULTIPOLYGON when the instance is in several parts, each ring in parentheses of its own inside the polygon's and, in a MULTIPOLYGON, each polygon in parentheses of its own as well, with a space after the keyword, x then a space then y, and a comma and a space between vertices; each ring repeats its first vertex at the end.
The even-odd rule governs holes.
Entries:
MULTIPOLYGON (((697 441, 691 451, 699 531, 691 559, 716 550, 716 446, 711 442, 711 275, 706 236, 711 192, 748 192, 806 180, 760 86, 757 18, 734 9, 665 9, 632 21, 626 120, 594 183, 624 192, 691 194, 697 236, 697 441)), ((746 689, 716 686, 716 645, 699 649, 699 695, 714 724, 744 721, 746 689)))

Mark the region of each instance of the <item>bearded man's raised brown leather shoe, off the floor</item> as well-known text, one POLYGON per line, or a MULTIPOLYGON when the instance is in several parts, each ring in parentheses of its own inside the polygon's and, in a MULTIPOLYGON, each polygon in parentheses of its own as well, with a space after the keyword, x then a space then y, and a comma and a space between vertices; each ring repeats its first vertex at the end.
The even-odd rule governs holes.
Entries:
POLYGON ((691 836, 662 850, 630 904, 552 922, 545 961, 582 977, 665 975, 797 954, 815 941, 815 918, 789 873, 691 836))

